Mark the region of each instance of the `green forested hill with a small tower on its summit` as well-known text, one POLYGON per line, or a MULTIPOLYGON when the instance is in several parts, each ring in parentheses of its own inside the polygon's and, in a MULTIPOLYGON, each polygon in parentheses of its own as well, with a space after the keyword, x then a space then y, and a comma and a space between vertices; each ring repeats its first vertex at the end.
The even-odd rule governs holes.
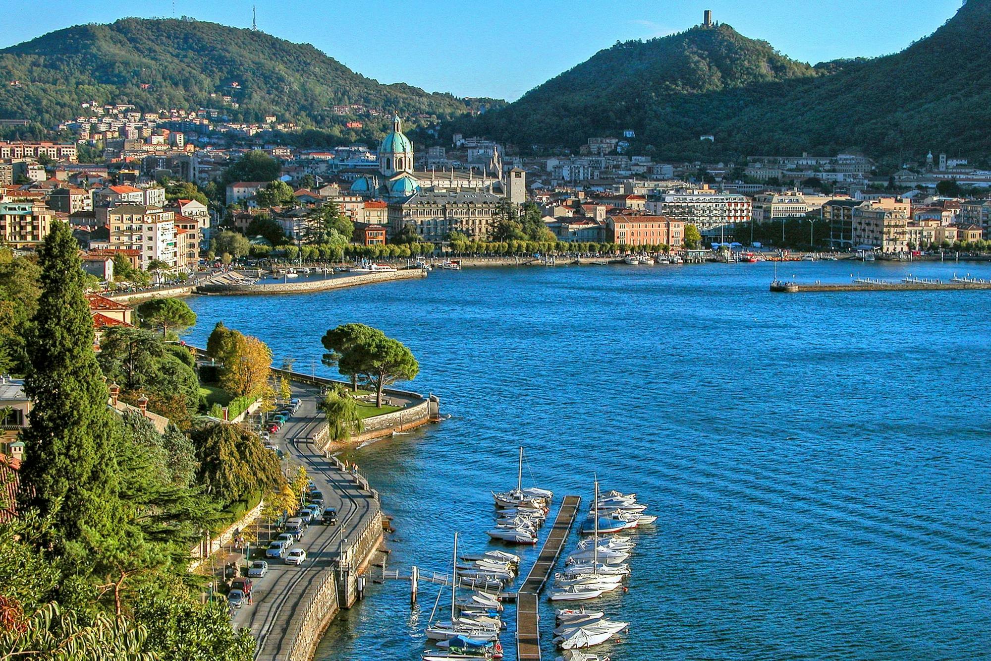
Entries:
POLYGON ((817 74, 728 25, 696 27, 600 51, 475 126, 520 145, 547 146, 633 128, 660 147, 698 140, 782 81, 817 74), (724 99, 718 106, 708 101, 714 94, 724 99))

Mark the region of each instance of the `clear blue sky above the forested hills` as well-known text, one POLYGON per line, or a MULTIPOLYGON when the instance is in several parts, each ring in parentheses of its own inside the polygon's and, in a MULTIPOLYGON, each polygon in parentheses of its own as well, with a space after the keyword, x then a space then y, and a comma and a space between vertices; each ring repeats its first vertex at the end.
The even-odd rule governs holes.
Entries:
POLYGON ((79 23, 191 16, 313 44, 382 82, 514 99, 617 40, 717 21, 816 64, 895 53, 931 34, 960 0, 0 0, 0 47, 79 23))

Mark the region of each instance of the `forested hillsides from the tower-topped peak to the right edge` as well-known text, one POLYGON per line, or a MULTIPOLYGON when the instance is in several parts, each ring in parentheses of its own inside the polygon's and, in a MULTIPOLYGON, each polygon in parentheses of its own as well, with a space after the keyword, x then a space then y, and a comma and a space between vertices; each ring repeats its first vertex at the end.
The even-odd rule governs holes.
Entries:
MULTIPOLYGON (((883 27, 878 27, 883 29, 883 27)), ((991 153, 991 0, 969 0, 901 53, 816 68, 728 26, 618 44, 462 130, 570 146, 637 132, 669 158, 803 151, 991 153), (715 144, 699 140, 712 134, 715 144)), ((648 153, 652 150, 647 149, 648 153)))

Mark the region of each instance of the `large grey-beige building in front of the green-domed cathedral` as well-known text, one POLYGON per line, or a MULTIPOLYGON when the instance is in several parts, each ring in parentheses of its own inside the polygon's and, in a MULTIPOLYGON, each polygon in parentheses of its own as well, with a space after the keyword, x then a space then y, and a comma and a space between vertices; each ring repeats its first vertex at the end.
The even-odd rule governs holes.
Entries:
POLYGON ((421 241, 440 243, 453 231, 485 241, 502 198, 485 191, 419 192, 388 204, 391 233, 411 225, 421 241))

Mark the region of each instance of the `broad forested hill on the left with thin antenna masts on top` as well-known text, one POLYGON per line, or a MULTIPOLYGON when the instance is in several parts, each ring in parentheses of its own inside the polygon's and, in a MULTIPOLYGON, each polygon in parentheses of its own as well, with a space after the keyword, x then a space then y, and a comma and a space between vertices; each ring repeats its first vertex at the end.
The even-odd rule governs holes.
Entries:
POLYGON ((306 44, 187 19, 122 19, 58 30, 0 51, 0 81, 0 117, 46 126, 75 117, 87 100, 142 110, 223 108, 245 121, 275 113, 279 121, 317 127, 340 121, 329 108, 346 103, 406 116, 451 117, 467 109, 451 94, 381 84, 306 44), (13 80, 21 86, 9 85, 13 80), (240 108, 225 107, 222 94, 233 95, 240 108))

